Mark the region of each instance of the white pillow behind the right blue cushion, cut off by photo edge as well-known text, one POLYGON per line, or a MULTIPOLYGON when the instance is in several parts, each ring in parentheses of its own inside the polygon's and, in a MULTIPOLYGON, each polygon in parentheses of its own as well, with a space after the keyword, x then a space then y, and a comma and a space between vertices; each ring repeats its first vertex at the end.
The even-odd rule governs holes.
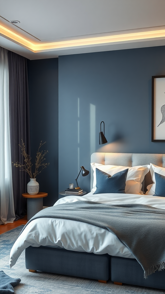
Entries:
POLYGON ((159 173, 162 176, 165 176, 165 168, 160 167, 160 166, 156 166, 155 164, 150 163, 150 173, 151 173, 152 181, 154 183, 147 186, 148 191, 146 192, 146 195, 154 195, 155 194, 155 186, 156 186, 155 172, 159 173))

